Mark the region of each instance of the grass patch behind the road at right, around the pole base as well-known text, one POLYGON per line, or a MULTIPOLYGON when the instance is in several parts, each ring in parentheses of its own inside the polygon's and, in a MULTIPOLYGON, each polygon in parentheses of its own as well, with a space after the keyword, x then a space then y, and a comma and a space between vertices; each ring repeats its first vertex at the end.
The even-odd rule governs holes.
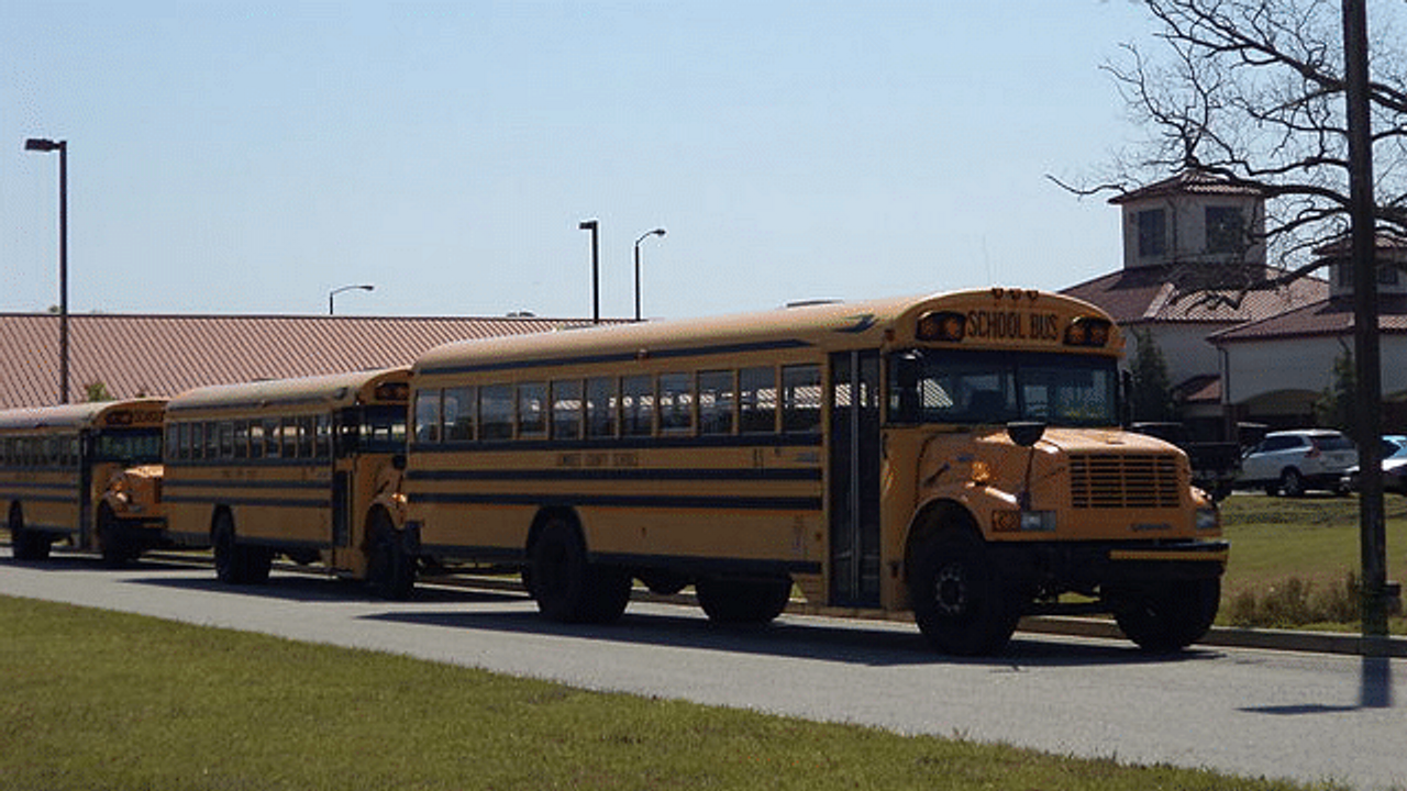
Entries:
MULTIPOLYGON (((1220 624, 1233 624, 1234 607, 1247 597, 1280 609, 1296 609, 1296 601, 1348 597, 1345 580, 1359 576, 1358 497, 1266 497, 1238 494, 1221 504, 1231 560, 1221 586, 1220 624)), ((1384 500, 1387 532, 1387 578, 1407 581, 1407 498, 1389 494, 1384 500)), ((1311 611, 1332 609, 1310 607, 1311 611)), ((1358 629, 1352 621, 1280 622, 1278 626, 1316 629, 1358 629)), ((1394 635, 1407 633, 1407 619, 1392 619, 1394 635)))

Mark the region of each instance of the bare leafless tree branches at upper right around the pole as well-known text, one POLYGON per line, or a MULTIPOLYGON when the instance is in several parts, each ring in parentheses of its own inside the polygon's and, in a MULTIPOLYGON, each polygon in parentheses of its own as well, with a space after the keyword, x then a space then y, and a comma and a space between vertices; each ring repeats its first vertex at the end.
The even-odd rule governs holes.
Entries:
MULTIPOLYGON (((1323 266, 1314 249, 1346 227, 1348 142, 1342 24, 1334 0, 1144 0, 1162 46, 1134 44, 1102 69, 1147 131, 1112 176, 1051 182, 1089 197, 1127 194, 1182 172, 1203 172, 1266 198, 1265 243, 1280 274, 1188 265, 1179 298, 1238 305, 1323 266), (1196 290, 1210 296, 1200 297, 1196 290)), ((1407 4, 1403 4, 1407 7, 1407 4)), ((1404 14, 1407 15, 1407 14, 1404 14)), ((1392 25, 1373 42, 1370 103, 1376 217, 1407 236, 1407 53, 1392 25)))

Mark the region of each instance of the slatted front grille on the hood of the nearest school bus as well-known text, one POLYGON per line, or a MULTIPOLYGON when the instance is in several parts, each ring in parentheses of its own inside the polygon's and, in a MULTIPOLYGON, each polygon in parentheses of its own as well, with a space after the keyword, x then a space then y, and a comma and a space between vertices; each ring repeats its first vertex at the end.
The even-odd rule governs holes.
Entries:
POLYGON ((1178 508, 1176 456, 1072 453, 1069 497, 1075 508, 1178 508))

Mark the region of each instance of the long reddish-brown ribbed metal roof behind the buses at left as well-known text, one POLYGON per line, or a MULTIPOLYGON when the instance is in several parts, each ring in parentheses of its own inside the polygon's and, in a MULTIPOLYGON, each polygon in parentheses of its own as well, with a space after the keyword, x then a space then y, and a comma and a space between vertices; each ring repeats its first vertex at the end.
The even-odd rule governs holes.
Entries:
MULTIPOLYGON (((207 384, 408 366, 469 338, 550 332, 563 318, 326 315, 69 317, 69 400, 101 381, 114 398, 176 396, 207 384)), ((0 408, 58 403, 59 317, 0 314, 0 408)))

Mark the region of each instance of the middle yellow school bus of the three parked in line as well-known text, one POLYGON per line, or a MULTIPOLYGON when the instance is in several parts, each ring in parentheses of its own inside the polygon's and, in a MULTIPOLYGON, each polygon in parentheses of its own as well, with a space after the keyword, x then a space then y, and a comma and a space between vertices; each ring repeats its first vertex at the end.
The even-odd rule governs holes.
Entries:
POLYGON ((201 387, 166 414, 167 535, 212 546, 221 581, 267 580, 276 555, 321 560, 383 593, 411 573, 398 519, 408 369, 201 387))

